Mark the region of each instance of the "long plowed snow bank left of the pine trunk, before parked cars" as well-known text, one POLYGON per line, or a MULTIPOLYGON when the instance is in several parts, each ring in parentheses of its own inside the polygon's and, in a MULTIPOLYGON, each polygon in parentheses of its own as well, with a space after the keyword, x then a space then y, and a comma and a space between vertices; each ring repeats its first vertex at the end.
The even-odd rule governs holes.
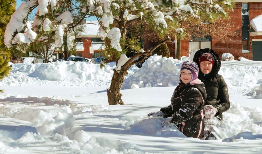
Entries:
MULTIPOLYGON (((52 84, 63 86, 96 87, 108 86, 113 76, 115 63, 100 68, 100 64, 91 62, 63 61, 55 63, 20 63, 12 65, 10 74, 0 81, 0 86, 27 84, 52 84)), ((129 75, 139 68, 132 66, 129 75)))

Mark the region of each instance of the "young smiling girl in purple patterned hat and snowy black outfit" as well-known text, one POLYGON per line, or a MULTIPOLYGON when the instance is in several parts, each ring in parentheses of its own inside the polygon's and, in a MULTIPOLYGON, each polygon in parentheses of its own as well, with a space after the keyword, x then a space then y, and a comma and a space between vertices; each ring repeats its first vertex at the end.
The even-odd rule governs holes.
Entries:
POLYGON ((180 83, 174 90, 171 104, 147 116, 171 117, 162 126, 176 124, 187 137, 202 138, 204 131, 204 100, 207 98, 204 83, 198 77, 195 62, 186 61, 180 69, 180 83))

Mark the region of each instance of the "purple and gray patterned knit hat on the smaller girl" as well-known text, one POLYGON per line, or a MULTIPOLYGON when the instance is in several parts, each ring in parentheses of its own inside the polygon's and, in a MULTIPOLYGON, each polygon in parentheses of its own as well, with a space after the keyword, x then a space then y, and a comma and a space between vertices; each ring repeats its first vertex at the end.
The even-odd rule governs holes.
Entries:
POLYGON ((180 68, 180 75, 183 70, 190 71, 192 79, 189 82, 197 79, 199 71, 197 63, 192 61, 185 61, 180 68))

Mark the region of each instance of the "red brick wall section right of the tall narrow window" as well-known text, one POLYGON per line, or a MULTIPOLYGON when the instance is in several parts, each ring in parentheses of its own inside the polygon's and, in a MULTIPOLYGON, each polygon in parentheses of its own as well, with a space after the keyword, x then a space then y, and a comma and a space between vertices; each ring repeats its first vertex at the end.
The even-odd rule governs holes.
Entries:
MULTIPOLYGON (((249 21, 251 21, 253 18, 262 14, 262 2, 249 2, 248 9, 249 9, 249 21)), ((251 27, 250 24, 249 27, 251 27)), ((250 36, 250 29, 249 29, 249 51, 251 53, 252 53, 252 39, 262 39, 262 35, 250 36)))

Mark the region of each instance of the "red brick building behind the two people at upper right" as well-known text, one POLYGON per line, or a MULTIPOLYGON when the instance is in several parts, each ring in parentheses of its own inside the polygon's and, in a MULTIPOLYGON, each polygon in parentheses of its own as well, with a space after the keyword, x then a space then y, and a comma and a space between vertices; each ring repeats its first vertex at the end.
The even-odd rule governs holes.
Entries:
MULTIPOLYGON (((242 56, 250 60, 262 61, 262 0, 236 0, 235 8, 229 13, 231 31, 235 36, 232 41, 223 43, 219 38, 192 38, 181 41, 181 56, 188 56, 189 51, 211 48, 221 55, 231 53, 235 59, 242 56), (255 18, 255 19, 254 19, 255 18), (254 19, 254 20, 252 20, 254 19), (252 20, 252 21, 251 21, 252 20)), ((144 42, 144 50, 154 47, 155 42, 144 42)), ((175 43, 167 43, 170 56, 175 57, 175 43)))

